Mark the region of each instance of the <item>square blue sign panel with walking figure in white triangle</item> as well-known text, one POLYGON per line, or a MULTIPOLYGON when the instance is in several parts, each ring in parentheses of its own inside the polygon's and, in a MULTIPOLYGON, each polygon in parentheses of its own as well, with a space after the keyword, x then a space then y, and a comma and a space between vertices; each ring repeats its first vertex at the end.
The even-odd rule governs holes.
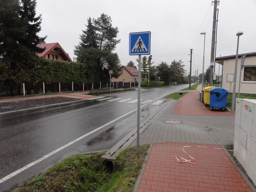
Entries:
POLYGON ((131 32, 129 34, 129 55, 150 55, 151 32, 131 32))

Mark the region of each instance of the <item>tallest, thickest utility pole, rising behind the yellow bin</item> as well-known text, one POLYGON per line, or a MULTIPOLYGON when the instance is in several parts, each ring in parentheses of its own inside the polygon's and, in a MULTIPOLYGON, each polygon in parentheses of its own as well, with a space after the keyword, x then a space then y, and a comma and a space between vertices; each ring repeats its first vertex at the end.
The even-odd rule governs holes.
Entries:
POLYGON ((210 63, 210 74, 209 74, 209 84, 213 86, 213 73, 214 73, 214 54, 215 54, 215 34, 216 34, 216 12, 217 12, 217 5, 219 3, 218 0, 212 1, 214 3, 214 16, 213 16, 213 23, 212 23, 212 47, 211 47, 211 63, 210 63))

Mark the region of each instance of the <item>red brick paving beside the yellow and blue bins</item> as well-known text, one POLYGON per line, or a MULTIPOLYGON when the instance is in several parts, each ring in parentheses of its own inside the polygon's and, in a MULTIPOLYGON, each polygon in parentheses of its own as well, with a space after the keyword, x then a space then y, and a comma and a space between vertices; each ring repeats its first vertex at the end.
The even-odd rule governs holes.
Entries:
POLYGON ((204 107, 204 104, 199 101, 199 92, 191 91, 181 97, 173 112, 173 114, 183 114, 183 115, 211 115, 211 116, 234 116, 231 112, 222 111, 211 111, 209 108, 204 107))

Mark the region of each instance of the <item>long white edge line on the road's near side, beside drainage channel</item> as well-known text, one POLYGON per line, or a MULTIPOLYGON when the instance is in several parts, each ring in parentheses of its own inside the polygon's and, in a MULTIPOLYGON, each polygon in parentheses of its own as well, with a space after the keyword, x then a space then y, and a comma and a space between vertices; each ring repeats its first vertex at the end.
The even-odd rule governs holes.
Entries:
MULTIPOLYGON (((154 100, 152 100, 151 102, 154 102, 154 101, 156 101, 156 100, 158 100, 158 99, 160 99, 160 98, 162 98, 162 97, 165 97, 165 96, 167 96, 167 95, 169 95, 169 94, 171 94, 171 93, 168 93, 168 94, 165 94, 165 95, 163 95, 163 96, 161 96, 161 97, 158 97, 157 99, 154 99, 154 100)), ((149 103, 151 103, 151 102, 149 102, 149 103)), ((147 104, 149 104, 149 103, 147 103, 147 104)), ((140 108, 146 106, 147 104, 144 104, 143 106, 140 106, 140 108)), ((112 120, 112 121, 109 121, 108 123, 104 124, 103 126, 100 126, 100 127, 96 128, 95 130, 92 130, 92 131, 90 131, 89 133, 84 134, 84 135, 81 136, 81 137, 78 137, 77 139, 75 139, 75 140, 69 142, 68 144, 63 145, 62 147, 60 147, 60 148, 58 148, 58 149, 56 149, 56 150, 54 150, 54 151, 48 153, 47 155, 44 155, 44 156, 41 157, 40 159, 38 159, 38 160, 36 160, 36 161, 33 161, 33 162, 31 162, 30 164, 28 164, 28 165, 25 165, 24 167, 18 169, 17 171, 12 172, 11 174, 9 174, 9 175, 7 175, 7 176, 1 178, 1 179, 0 179, 0 184, 3 183, 4 181, 6 181, 7 179, 10 179, 10 178, 12 178, 13 176, 19 174, 20 172, 22 172, 22 171, 24 171, 24 170, 26 170, 26 169, 32 167, 33 165, 35 165, 35 164, 37 164, 37 163, 39 163, 40 161, 45 160, 47 157, 50 157, 51 155, 53 155, 53 154, 55 154, 55 153, 61 151, 62 149, 68 147, 69 145, 72 145, 72 144, 76 143, 77 141, 79 141, 79 140, 81 140, 81 139, 83 139, 83 138, 85 138, 85 137, 91 135, 92 133, 94 133, 94 132, 96 132, 96 131, 102 129, 103 127, 106 127, 107 125, 109 125, 109 124, 111 124, 111 123, 113 123, 113 122, 115 122, 115 121, 121 119, 122 117, 124 117, 124 116, 126 116, 126 115, 128 115, 128 114, 130 114, 130 113, 132 113, 132 112, 134 112, 134 111, 136 111, 136 110, 137 110, 137 108, 134 109, 134 110, 132 110, 132 111, 130 111, 130 112, 128 112, 128 113, 126 113, 126 114, 124 114, 124 115, 122 115, 122 116, 120 116, 120 117, 117 117, 116 119, 114 119, 114 120, 112 120)))

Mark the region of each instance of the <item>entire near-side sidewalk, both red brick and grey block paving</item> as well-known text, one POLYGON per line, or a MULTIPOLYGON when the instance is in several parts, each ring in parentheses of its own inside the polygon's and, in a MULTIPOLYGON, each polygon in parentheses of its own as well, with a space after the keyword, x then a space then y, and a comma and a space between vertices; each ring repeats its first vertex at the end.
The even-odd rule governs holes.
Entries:
MULTIPOLYGON (((175 155, 190 160, 184 145, 222 148, 233 143, 233 113, 211 112, 199 102, 199 92, 168 100, 140 134, 140 144, 153 144, 138 191, 251 191, 224 150, 186 148, 195 164, 179 163, 175 155), (168 120, 180 121, 169 124, 168 120)), ((136 140, 132 143, 136 145, 136 140)))

